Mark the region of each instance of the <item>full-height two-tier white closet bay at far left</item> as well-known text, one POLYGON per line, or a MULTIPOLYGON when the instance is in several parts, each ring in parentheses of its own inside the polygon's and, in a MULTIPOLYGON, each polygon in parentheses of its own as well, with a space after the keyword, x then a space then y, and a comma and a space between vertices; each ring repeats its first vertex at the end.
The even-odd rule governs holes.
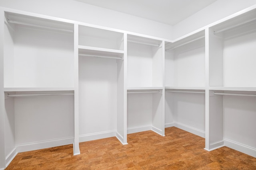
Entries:
POLYGON ((74 143, 74 25, 12 12, 4 15, 8 164, 17 152, 74 143))

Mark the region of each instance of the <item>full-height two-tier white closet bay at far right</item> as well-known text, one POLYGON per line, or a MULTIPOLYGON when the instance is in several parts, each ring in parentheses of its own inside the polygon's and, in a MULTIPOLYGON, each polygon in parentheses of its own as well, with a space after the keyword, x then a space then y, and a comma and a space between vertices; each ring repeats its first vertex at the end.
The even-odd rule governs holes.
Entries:
POLYGON ((228 146, 256 156, 256 10, 209 27, 206 149, 228 146))

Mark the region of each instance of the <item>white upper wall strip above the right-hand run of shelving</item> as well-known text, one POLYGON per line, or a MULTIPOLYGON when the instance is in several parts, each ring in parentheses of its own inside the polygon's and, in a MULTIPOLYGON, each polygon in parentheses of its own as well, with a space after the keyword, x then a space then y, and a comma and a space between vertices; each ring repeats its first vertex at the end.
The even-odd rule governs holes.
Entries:
POLYGON ((196 14, 173 26, 172 39, 186 35, 256 4, 256 0, 217 0, 196 14))

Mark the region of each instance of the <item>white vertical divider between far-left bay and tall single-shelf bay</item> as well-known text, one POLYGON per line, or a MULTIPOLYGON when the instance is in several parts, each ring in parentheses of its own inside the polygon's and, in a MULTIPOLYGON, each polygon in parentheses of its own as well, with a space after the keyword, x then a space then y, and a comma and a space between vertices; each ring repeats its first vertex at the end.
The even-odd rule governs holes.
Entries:
POLYGON ((80 154, 79 149, 79 87, 78 87, 78 24, 74 24, 74 155, 80 154))

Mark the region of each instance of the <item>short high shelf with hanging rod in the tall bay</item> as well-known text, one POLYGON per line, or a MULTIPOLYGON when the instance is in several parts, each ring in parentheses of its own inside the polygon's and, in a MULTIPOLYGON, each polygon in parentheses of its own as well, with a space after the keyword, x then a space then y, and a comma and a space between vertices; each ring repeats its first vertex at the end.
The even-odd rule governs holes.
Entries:
POLYGON ((78 53, 80 56, 101 57, 110 59, 123 59, 124 51, 116 49, 105 49, 99 47, 89 47, 78 45, 78 53))

